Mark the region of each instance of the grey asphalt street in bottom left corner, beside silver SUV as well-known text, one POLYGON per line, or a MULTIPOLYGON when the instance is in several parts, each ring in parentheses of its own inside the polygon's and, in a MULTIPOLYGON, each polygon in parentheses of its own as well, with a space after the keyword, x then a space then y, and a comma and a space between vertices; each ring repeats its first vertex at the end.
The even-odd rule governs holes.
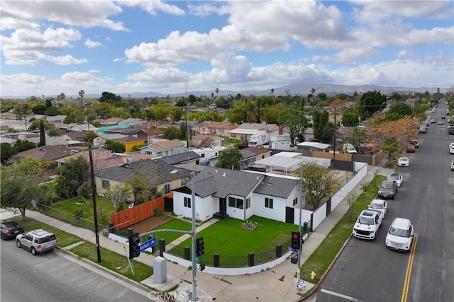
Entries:
POLYGON ((150 301, 70 257, 57 250, 33 256, 15 240, 1 241, 1 301, 150 301))

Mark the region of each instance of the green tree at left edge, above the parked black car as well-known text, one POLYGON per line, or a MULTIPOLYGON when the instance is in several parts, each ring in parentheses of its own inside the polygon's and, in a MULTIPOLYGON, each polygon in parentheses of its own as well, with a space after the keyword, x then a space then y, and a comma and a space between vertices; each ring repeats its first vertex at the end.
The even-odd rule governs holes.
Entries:
POLYGON ((27 157, 23 161, 1 165, 1 207, 16 208, 26 218, 26 209, 32 202, 43 202, 45 192, 40 187, 44 180, 38 161, 27 157))

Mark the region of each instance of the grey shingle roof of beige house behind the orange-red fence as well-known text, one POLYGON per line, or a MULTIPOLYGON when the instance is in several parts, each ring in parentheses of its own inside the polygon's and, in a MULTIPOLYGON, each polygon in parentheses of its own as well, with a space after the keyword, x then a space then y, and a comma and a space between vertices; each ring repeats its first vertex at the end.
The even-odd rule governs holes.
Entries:
POLYGON ((187 176, 186 173, 181 171, 175 174, 170 174, 170 172, 172 170, 175 170, 175 168, 160 159, 131 161, 122 165, 117 165, 115 167, 94 171, 94 174, 99 178, 125 182, 138 170, 143 170, 146 175, 150 175, 152 186, 160 185, 162 183, 170 182, 172 180, 184 178, 185 176, 187 176))

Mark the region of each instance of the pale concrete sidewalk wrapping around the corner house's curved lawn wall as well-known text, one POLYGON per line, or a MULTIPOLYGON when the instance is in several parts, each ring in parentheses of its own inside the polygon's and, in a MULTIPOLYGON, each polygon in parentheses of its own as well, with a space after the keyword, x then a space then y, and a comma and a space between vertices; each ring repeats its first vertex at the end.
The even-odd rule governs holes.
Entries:
MULTIPOLYGON (((363 180, 355 187, 353 194, 359 195, 361 192, 361 185, 365 182, 370 182, 380 170, 377 175, 389 176, 394 170, 382 168, 380 166, 369 166, 370 170, 363 178, 363 180)), ((303 245, 301 251, 301 265, 309 258, 309 256, 319 247, 321 242, 326 238, 328 233, 331 231, 333 226, 343 217, 345 212, 348 210, 346 206, 347 201, 344 199, 336 209, 311 233, 303 245)), ((72 233, 80 238, 96 243, 96 238, 93 231, 86 228, 79 228, 72 226, 71 224, 53 219, 51 217, 40 214, 36 211, 27 211, 27 216, 48 223, 56 228, 60 228, 62 231, 72 233)), ((216 220, 212 219, 211 223, 215 223, 216 220)), ((206 228, 207 223, 197 227, 197 231, 201 228, 206 228)), ((186 236, 186 235, 184 235, 186 236)), ((184 237, 182 236, 182 237, 184 237)), ((185 238, 179 238, 178 240, 184 240, 185 238)), ((108 250, 117 252, 118 254, 125 255, 124 245, 114 240, 109 240, 105 236, 100 234, 99 244, 101 247, 108 250)), ((172 243, 173 244, 173 243, 172 243)), ((102 257, 102 255, 101 255, 102 257)), ((135 258, 139 262, 143 262, 150 267, 153 267, 153 260, 155 256, 148 253, 143 253, 140 257, 135 258)), ((226 275, 214 275, 206 274, 204 272, 197 271, 197 296, 198 301, 208 302, 213 301, 300 301, 301 296, 297 293, 296 279, 297 266, 292 264, 290 260, 282 262, 280 265, 267 269, 263 272, 256 274, 240 275, 240 276, 226 276, 226 275)), ((311 284, 310 280, 306 281, 306 291, 314 289, 316 284, 311 284)), ((188 270, 187 267, 182 267, 173 262, 167 261, 167 282, 164 284, 157 284, 154 282, 153 277, 150 277, 142 282, 143 284, 153 288, 166 291, 172 288, 176 284, 179 285, 177 293, 182 291, 192 291, 192 271, 188 270)), ((137 286, 140 291, 143 291, 143 286, 134 282, 129 281, 131 286, 137 286)), ((149 290, 151 291, 151 290, 149 290)), ((188 301, 189 298, 184 301, 188 301)))

